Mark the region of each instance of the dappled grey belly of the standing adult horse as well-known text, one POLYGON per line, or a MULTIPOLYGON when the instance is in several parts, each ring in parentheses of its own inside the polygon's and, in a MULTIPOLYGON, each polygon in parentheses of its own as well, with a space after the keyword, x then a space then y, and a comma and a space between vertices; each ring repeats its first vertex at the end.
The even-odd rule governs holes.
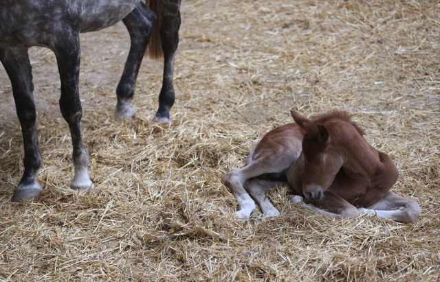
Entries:
POLYGON ((102 30, 140 0, 0 1, 0 45, 50 47, 60 34, 102 30))

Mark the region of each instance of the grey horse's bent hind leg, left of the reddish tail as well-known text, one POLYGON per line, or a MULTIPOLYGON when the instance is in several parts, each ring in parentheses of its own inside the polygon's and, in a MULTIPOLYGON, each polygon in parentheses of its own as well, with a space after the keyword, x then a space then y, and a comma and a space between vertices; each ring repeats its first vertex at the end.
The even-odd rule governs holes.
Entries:
POLYGON ((133 110, 130 103, 135 92, 137 73, 150 40, 151 28, 156 21, 156 15, 141 2, 122 21, 129 31, 131 46, 122 77, 116 89, 118 103, 116 104, 115 119, 134 117, 135 115, 135 110, 133 110))

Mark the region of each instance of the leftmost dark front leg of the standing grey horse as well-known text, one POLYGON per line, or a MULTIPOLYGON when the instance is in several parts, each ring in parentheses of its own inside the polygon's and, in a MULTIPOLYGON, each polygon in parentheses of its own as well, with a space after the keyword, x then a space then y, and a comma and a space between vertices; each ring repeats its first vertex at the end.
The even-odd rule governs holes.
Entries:
POLYGON ((28 49, 0 47, 0 61, 11 80, 25 149, 23 177, 15 189, 12 201, 33 200, 42 189, 36 181, 36 174, 41 167, 42 159, 36 135, 36 110, 32 93, 34 85, 32 84, 32 67, 29 62, 28 49))

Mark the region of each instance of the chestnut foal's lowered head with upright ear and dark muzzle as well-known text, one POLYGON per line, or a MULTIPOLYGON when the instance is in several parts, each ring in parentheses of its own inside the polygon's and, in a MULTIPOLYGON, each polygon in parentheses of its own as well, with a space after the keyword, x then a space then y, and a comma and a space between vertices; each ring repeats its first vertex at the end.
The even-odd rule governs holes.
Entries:
POLYGON ((340 128, 347 122, 355 126, 360 134, 363 135, 364 132, 351 121, 345 112, 333 111, 313 119, 307 119, 293 110, 291 113, 304 133, 304 196, 309 200, 321 200, 344 162, 340 154, 342 144, 334 142, 334 139, 339 138, 336 134, 343 134, 340 128))

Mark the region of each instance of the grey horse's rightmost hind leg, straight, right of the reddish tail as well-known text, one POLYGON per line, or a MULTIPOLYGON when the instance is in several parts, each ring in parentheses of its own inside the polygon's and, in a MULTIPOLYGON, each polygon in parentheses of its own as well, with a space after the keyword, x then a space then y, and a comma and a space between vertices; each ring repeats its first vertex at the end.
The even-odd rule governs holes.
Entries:
POLYGON ((162 50, 164 51, 164 78, 162 89, 159 94, 159 108, 155 120, 157 122, 171 122, 170 108, 175 101, 173 87, 174 54, 179 45, 180 28, 180 0, 166 0, 159 3, 161 10, 160 38, 162 50))

